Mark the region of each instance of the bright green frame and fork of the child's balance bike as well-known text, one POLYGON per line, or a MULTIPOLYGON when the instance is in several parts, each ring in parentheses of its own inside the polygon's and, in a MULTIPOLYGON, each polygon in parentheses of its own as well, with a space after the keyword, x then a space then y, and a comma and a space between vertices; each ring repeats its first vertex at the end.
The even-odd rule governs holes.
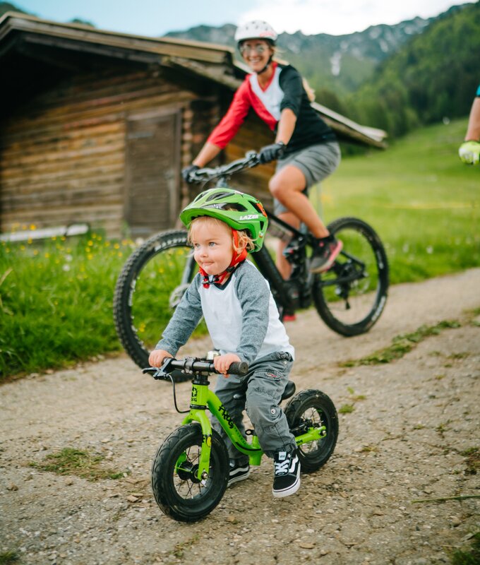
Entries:
MULTIPOLYGON (((202 450, 200 453, 200 461, 198 463, 197 478, 202 481, 208 477, 210 468, 210 449, 212 446, 212 424, 206 414, 206 410, 210 410, 224 429, 234 447, 244 455, 248 456, 251 465, 260 465, 263 456, 263 450, 258 442, 258 437, 252 435, 251 444, 246 441, 236 424, 232 421, 227 410, 224 408, 218 396, 210 391, 208 377, 206 375, 198 375, 193 379, 191 391, 190 412, 184 418, 182 424, 190 424, 198 422, 202 428, 202 450)), ((309 441, 318 441, 323 438, 325 426, 311 427, 307 432, 296 436, 297 446, 301 446, 309 441)), ((176 462, 176 468, 180 468, 183 459, 179 458, 176 462)))

